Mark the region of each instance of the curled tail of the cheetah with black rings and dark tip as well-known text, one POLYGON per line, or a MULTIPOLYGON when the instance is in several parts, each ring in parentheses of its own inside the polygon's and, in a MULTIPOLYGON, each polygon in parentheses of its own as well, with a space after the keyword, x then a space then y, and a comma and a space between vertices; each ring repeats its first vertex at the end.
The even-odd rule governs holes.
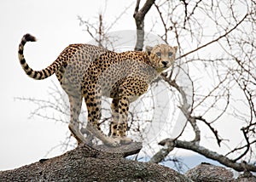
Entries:
POLYGON ((37 41, 36 37, 33 37, 30 34, 26 34, 25 36, 23 36, 19 45, 18 54, 19 54, 20 65, 22 66, 23 70, 26 72, 26 75, 36 80, 42 80, 44 78, 47 78, 53 75, 55 71, 58 70, 59 64, 55 61, 42 71, 33 71, 32 68, 26 63, 23 50, 27 42, 36 42, 36 41, 37 41))

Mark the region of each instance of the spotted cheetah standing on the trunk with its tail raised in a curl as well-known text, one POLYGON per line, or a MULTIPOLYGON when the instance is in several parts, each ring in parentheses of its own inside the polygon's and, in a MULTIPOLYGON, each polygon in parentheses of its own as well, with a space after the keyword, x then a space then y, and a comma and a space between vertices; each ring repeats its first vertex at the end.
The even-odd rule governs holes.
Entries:
POLYGON ((177 47, 159 44, 146 47, 146 51, 116 53, 90 44, 70 44, 57 59, 44 70, 34 71, 27 65, 24 46, 35 42, 30 34, 22 37, 19 45, 20 65, 26 75, 43 80, 55 74, 61 88, 68 95, 70 122, 68 128, 78 145, 88 140, 81 132, 79 114, 84 99, 88 111, 87 128, 106 145, 131 143, 126 137, 129 105, 147 92, 148 85, 175 60, 177 47), (102 96, 112 98, 110 136, 100 128, 102 96))

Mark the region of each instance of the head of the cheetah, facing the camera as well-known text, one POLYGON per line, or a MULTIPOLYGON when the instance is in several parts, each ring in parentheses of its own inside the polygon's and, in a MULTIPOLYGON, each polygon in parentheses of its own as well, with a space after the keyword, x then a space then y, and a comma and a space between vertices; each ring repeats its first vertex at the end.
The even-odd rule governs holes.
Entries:
POLYGON ((146 46, 150 65, 158 72, 165 71, 175 60, 177 46, 171 47, 166 44, 159 44, 154 47, 146 46))

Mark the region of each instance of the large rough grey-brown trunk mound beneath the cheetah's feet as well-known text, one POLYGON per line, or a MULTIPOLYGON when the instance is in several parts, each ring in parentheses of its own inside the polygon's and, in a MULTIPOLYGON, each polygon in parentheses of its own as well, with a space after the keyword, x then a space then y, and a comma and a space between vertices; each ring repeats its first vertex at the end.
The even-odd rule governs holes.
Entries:
POLYGON ((1 181, 190 181, 171 168, 149 162, 131 161, 125 159, 125 155, 98 151, 87 145, 81 145, 61 156, 2 171, 0 179, 1 181))

